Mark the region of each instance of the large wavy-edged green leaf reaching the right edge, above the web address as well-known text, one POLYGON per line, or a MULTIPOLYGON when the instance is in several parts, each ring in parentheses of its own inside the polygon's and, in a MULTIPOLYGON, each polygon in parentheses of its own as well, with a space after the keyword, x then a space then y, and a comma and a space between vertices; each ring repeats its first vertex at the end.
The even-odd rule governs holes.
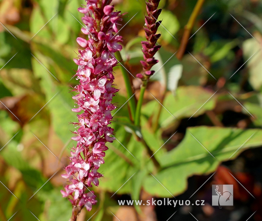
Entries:
POLYGON ((188 177, 210 174, 222 161, 235 159, 247 148, 261 146, 261 136, 261 129, 189 127, 185 138, 176 148, 161 156, 156 154, 160 164, 166 169, 155 177, 167 190, 152 175, 145 179, 143 188, 158 197, 183 193, 187 188, 188 177))

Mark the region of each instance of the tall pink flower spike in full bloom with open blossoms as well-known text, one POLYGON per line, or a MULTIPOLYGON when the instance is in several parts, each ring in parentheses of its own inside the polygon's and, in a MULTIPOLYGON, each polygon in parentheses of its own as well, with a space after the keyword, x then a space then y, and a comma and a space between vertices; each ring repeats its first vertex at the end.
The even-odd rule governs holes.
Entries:
POLYGON ((104 163, 106 142, 115 138, 114 129, 109 125, 112 121, 111 111, 116 108, 111 102, 118 92, 112 85, 114 82, 113 67, 117 60, 113 54, 122 49, 123 43, 118 33, 117 24, 122 20, 121 12, 114 12, 112 0, 86 0, 86 7, 80 7, 79 12, 84 14, 82 21, 85 26, 81 31, 88 36, 88 40, 77 38, 77 43, 84 49, 79 49, 78 58, 74 62, 78 65, 77 85, 73 91, 76 95, 73 112, 78 122, 73 123, 77 130, 72 138, 77 145, 71 150, 70 164, 65 167, 66 174, 62 177, 69 179, 65 190, 61 190, 63 197, 72 203, 72 216, 75 221, 81 209, 88 211, 97 203, 93 191, 88 188, 98 186, 99 178, 103 175, 98 172, 104 163))

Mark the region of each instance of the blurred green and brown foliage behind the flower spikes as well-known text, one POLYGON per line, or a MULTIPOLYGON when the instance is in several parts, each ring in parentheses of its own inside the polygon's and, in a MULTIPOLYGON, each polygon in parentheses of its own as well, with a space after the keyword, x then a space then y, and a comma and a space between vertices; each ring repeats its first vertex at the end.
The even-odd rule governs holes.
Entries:
MULTIPOLYGON (((192 198, 205 199, 206 205, 178 207, 170 220, 193 220, 187 211, 199 221, 233 220, 234 214, 234 220, 246 220, 261 205, 262 4, 259 0, 205 1, 191 35, 197 32, 178 60, 175 53, 196 2, 160 1, 163 22, 158 43, 162 47, 156 54, 156 74, 145 92, 141 131, 129 119, 120 68, 114 70, 120 88, 114 102, 121 107, 114 111, 112 123, 117 140, 108 144, 100 169, 104 178, 94 188, 98 204, 91 212, 83 210, 79 221, 91 216, 95 221, 116 220, 112 213, 121 221, 138 220, 136 210, 140 220, 152 214, 157 220, 167 220, 174 208, 120 208, 117 199, 176 196, 186 200, 215 171, 192 198), (150 174, 153 163, 134 133, 143 134, 160 163, 154 177, 150 174), (244 151, 247 148, 256 149, 244 151), (210 206, 214 182, 234 184, 234 209, 225 209, 223 216, 210 206)), ((138 98, 140 81, 132 75, 141 70, 145 3, 113 3, 128 12, 119 34, 126 39, 122 57, 138 98)), ((84 1, 0 1, 0 220, 14 214, 10 220, 70 217, 70 203, 60 194, 65 182, 60 175, 73 146, 70 130, 74 127, 69 122, 76 115, 71 112, 70 89, 77 85, 72 59, 77 56, 75 39, 83 37, 77 12, 81 4, 84 1)), ((250 220, 262 220, 261 211, 250 220)))

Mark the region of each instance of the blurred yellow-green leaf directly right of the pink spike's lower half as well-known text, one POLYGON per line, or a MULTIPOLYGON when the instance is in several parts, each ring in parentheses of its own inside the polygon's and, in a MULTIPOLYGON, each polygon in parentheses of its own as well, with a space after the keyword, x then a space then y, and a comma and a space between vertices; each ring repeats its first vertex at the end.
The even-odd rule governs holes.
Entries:
MULTIPOLYGON (((126 181, 139 170, 143 146, 140 142, 137 142, 133 136, 130 137, 131 134, 127 134, 123 127, 121 127, 116 134, 116 138, 119 141, 114 140, 112 144, 108 144, 109 149, 106 151, 104 158, 105 163, 100 166, 100 171, 104 174, 104 177, 99 183, 99 186, 112 193, 117 190, 117 194, 130 193, 131 180, 126 181), (136 159, 119 142, 121 142, 136 159), (121 157, 119 152, 125 155, 133 165, 130 165, 121 157), (124 183, 125 185, 123 185, 124 183)), ((133 177, 131 179, 133 179, 133 177)))

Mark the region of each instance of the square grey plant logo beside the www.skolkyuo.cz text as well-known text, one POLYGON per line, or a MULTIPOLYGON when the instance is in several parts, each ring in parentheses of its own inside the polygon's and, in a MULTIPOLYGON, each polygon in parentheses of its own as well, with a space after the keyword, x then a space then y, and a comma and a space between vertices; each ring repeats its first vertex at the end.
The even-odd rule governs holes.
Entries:
POLYGON ((212 206, 232 206, 233 185, 212 185, 212 206))

